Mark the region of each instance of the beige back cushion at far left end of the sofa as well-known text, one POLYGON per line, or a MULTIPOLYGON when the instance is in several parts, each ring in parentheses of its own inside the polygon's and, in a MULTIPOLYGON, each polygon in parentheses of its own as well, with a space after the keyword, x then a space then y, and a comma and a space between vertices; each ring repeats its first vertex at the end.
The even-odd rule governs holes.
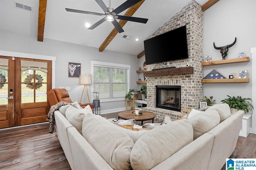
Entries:
POLYGON ((82 134, 82 124, 85 113, 82 109, 68 107, 66 109, 66 119, 82 134))

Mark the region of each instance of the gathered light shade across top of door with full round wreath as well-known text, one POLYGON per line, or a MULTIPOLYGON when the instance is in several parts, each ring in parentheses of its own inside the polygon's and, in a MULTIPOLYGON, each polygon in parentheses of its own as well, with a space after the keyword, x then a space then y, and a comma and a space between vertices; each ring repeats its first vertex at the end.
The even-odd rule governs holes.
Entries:
POLYGON ((42 72, 47 73, 47 63, 45 62, 37 62, 37 61, 20 61, 21 70, 41 70, 42 72))

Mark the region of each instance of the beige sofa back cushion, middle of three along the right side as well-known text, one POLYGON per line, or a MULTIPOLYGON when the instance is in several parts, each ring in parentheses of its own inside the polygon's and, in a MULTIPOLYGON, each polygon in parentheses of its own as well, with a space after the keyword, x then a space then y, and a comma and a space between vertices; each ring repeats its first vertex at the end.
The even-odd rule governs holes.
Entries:
POLYGON ((191 123, 194 130, 194 140, 202 134, 210 131, 220 123, 220 115, 216 110, 208 109, 202 113, 198 113, 187 120, 191 123))

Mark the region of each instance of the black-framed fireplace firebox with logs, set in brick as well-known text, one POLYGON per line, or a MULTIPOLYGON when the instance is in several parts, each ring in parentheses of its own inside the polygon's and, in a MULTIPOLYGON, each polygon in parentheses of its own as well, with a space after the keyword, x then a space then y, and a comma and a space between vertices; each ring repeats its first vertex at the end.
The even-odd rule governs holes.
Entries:
POLYGON ((180 111, 180 86, 156 86, 156 107, 180 111))

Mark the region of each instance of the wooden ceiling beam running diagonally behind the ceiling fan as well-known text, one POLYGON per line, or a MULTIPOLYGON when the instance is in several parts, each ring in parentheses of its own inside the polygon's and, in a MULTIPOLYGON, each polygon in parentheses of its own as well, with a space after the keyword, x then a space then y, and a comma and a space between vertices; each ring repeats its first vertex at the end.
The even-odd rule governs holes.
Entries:
MULTIPOLYGON (((145 0, 142 0, 140 2, 138 2, 137 4, 131 6, 126 13, 124 14, 124 16, 132 16, 137 10, 138 8, 141 6, 141 4, 144 2, 145 0)), ((126 24, 127 21, 125 20, 120 20, 118 23, 121 27, 124 26, 124 24, 126 24)), ((118 31, 116 28, 112 29, 112 31, 110 32, 110 34, 108 35, 108 37, 106 37, 106 39, 103 41, 103 43, 100 45, 99 47, 99 51, 102 52, 107 46, 108 44, 114 39, 114 37, 117 35, 118 31)))

